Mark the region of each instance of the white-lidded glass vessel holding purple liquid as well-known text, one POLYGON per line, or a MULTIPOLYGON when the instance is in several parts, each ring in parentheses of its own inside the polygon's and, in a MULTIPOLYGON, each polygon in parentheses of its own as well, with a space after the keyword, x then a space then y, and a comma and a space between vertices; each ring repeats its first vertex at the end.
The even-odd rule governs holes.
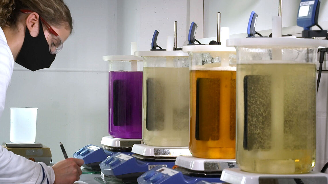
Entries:
POLYGON ((142 58, 104 56, 109 61, 108 133, 113 138, 141 138, 142 58))

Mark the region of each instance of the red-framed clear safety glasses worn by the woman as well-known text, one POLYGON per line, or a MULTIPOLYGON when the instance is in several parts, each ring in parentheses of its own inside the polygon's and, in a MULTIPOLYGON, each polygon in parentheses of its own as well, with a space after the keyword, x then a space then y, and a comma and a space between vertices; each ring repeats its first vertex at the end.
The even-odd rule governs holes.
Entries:
MULTIPOLYGON (((33 13, 34 11, 28 9, 21 9, 22 13, 33 13)), ((55 30, 51 28, 51 26, 40 16, 40 20, 43 24, 48 28, 50 34, 47 38, 47 42, 49 44, 49 51, 51 54, 57 54, 63 48, 63 41, 60 39, 59 35, 55 30)))

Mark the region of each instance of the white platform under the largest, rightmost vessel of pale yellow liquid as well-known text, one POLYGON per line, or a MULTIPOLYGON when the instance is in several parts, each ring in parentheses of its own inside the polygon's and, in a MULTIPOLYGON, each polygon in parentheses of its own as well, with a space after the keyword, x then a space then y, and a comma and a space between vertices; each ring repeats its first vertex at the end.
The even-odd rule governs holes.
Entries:
POLYGON ((230 184, 327 184, 328 175, 311 171, 297 175, 272 175, 241 171, 240 169, 225 169, 221 180, 230 184))

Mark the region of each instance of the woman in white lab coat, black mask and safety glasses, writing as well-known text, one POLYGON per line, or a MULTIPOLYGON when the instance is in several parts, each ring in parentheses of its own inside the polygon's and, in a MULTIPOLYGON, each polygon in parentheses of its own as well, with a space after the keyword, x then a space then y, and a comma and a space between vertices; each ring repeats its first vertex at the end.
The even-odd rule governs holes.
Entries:
MULTIPOLYGON (((0 116, 14 61, 32 71, 48 68, 72 32, 63 0, 0 0, 0 116)), ((83 160, 52 167, 0 147, 0 183, 69 184, 79 180, 83 160)))

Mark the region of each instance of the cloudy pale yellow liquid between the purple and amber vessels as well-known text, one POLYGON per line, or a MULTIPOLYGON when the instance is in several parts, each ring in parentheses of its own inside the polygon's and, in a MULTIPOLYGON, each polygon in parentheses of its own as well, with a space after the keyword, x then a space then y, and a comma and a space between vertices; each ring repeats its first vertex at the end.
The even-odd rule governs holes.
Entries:
POLYGON ((189 68, 144 67, 142 139, 152 146, 188 146, 189 68))

